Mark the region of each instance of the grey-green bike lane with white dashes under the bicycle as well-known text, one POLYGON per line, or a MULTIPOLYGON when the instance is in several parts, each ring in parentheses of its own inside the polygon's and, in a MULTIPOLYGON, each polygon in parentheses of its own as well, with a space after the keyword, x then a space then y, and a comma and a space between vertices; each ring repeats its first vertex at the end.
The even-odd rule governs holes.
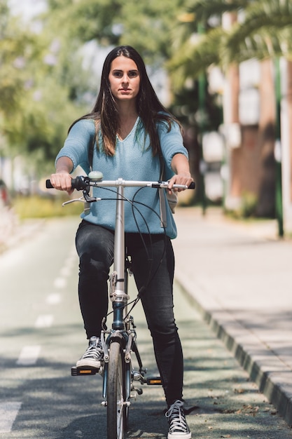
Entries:
MULTIPOLYGON (((71 377, 87 344, 78 307, 78 218, 41 224, 0 255, 0 438, 106 439, 102 379, 71 377)), ((193 438, 288 439, 292 431, 175 288, 193 438)), ((141 307, 133 312, 148 375, 156 374, 141 307)), ((160 387, 130 407, 128 438, 166 438, 160 387)))

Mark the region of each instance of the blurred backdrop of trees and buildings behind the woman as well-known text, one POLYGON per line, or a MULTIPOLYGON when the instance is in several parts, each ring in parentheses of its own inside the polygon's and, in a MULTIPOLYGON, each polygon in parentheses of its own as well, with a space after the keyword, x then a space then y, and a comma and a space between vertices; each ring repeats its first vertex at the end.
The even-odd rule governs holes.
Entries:
POLYGON ((197 190, 181 205, 291 233, 291 23, 290 0, 0 0, 0 235, 55 215, 44 181, 120 44, 183 125, 197 190))

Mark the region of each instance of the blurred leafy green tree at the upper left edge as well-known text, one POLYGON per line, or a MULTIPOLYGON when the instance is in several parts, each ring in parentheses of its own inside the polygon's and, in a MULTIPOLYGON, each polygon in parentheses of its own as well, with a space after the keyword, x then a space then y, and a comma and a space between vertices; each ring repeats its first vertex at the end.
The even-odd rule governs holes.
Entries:
POLYGON ((0 8, 2 154, 28 155, 31 166, 51 167, 72 120, 88 110, 88 72, 76 41, 56 37, 54 28, 34 32, 4 0, 0 8))

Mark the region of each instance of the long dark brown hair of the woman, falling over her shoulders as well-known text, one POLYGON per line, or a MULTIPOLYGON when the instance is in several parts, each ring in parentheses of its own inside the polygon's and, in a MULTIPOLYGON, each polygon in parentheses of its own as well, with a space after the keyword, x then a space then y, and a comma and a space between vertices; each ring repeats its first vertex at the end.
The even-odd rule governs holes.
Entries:
MULTIPOLYGON (((179 123, 172 114, 169 114, 165 107, 158 99, 151 82, 149 81, 146 67, 141 55, 131 46, 118 46, 111 50, 104 60, 102 69, 102 79, 100 83, 99 94, 95 106, 90 114, 85 114, 81 119, 94 119, 96 126, 96 135, 98 137, 99 129, 102 132, 104 152, 109 156, 113 156, 116 151, 116 133, 119 128, 118 109, 116 102, 111 93, 109 84, 109 72, 111 71, 111 63, 118 56, 125 56, 133 60, 138 68, 140 76, 140 88, 137 95, 137 113, 143 123, 146 134, 150 137, 150 144, 153 155, 159 151, 159 137, 157 133, 157 124, 164 122, 167 124, 167 130, 171 129, 173 121, 179 123), (98 129, 97 129, 98 127, 98 129)), ((76 121, 74 122, 76 123, 76 121)), ((74 123, 71 125, 73 126, 74 123)), ((180 124, 179 124, 180 125, 180 124)), ((69 128, 69 130, 71 127, 69 128)), ((97 147, 98 147, 97 139, 97 147)))

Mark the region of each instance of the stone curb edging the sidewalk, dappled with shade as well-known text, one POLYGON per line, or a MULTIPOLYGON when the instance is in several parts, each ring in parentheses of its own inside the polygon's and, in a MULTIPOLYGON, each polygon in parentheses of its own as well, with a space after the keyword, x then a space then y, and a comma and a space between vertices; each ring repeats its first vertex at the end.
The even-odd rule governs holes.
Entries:
POLYGON ((292 426, 292 374, 291 368, 263 346, 262 342, 232 317, 231 313, 218 306, 211 297, 193 294, 193 284, 176 273, 176 281, 195 304, 203 320, 211 327, 218 339, 221 339, 228 351, 246 370, 258 389, 274 405, 288 426, 292 426), (290 379, 283 379, 283 373, 290 379), (290 381, 290 383, 288 382, 290 381))

